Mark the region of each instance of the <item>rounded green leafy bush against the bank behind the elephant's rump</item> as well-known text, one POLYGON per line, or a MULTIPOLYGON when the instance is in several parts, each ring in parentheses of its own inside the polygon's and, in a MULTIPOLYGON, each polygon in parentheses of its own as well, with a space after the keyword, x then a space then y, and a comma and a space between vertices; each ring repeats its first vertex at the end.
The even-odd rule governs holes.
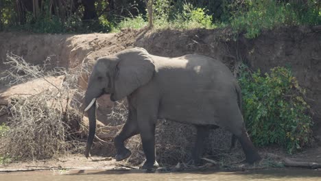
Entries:
POLYGON ((289 69, 276 67, 261 76, 243 66, 239 83, 244 120, 255 145, 277 144, 292 153, 309 143, 312 121, 305 90, 289 69))

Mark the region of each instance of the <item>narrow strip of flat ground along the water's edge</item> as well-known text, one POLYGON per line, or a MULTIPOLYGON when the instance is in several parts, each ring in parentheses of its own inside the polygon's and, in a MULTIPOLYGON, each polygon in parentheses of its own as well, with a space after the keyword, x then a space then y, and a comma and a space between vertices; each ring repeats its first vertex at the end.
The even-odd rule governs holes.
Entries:
MULTIPOLYGON (((288 155, 277 149, 260 149, 263 156, 261 162, 254 165, 241 162, 216 162, 215 160, 204 161, 203 165, 194 167, 178 162, 176 165, 160 165, 158 172, 176 171, 252 171, 266 169, 313 169, 321 170, 321 147, 306 149, 305 152, 288 155), (286 160, 285 160, 286 159, 286 160), (213 162, 212 162, 213 161, 213 162)), ((237 151, 230 153, 230 156, 237 155, 237 151)), ((45 160, 29 160, 24 162, 8 162, 0 165, 0 173, 16 171, 74 171, 74 170, 114 170, 128 171, 139 170, 139 165, 132 165, 128 160, 117 162, 115 158, 104 156, 92 156, 85 158, 83 154, 64 154, 45 160)))

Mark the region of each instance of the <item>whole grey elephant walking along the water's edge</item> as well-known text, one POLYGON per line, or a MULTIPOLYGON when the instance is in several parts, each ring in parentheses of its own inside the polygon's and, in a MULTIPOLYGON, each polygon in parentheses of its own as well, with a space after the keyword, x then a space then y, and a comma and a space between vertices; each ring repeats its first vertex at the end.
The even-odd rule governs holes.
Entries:
MULTIPOLYGON (((124 141, 140 134, 146 157, 142 168, 157 167, 157 119, 196 126, 194 162, 200 161, 209 129, 218 127, 238 138, 247 162, 261 160, 244 127, 239 106, 241 90, 222 62, 199 55, 165 58, 152 56, 142 48, 127 49, 97 60, 88 81, 85 106, 103 94, 110 94, 112 101, 128 99, 128 119, 114 140, 116 160, 130 156, 124 141)), ((95 135, 95 107, 93 104, 87 112, 90 126, 85 151, 87 158, 95 135)))

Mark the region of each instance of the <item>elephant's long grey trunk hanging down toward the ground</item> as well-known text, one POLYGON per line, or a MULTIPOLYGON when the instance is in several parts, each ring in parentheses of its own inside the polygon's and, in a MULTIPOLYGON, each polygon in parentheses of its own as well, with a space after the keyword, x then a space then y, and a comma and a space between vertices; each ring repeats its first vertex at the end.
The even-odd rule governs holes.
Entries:
POLYGON ((86 150, 85 150, 85 156, 88 158, 89 152, 91 151, 91 145, 93 145, 93 138, 95 137, 96 132, 96 101, 94 100, 93 105, 90 106, 91 101, 93 99, 90 99, 89 97, 85 96, 85 104, 88 108, 87 114, 89 119, 89 132, 88 132, 88 138, 87 138, 87 144, 86 144, 86 150))

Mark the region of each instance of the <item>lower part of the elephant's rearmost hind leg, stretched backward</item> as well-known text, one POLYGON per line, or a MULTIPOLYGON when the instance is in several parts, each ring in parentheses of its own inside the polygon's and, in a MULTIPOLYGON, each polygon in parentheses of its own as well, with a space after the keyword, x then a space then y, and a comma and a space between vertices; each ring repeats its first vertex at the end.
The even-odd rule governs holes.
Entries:
POLYGON ((235 136, 237 136, 242 145, 243 152, 246 155, 246 162, 253 164, 254 162, 258 162, 262 159, 252 141, 250 141, 250 137, 248 136, 245 128, 242 129, 241 134, 235 136))

